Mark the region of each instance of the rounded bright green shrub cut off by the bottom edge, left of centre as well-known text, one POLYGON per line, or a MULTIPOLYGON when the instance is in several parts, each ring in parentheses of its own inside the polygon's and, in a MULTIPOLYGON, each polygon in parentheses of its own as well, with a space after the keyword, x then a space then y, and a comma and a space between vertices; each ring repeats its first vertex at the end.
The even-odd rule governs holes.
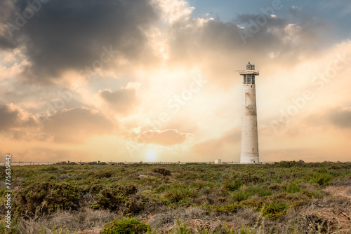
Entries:
POLYGON ((138 219, 121 218, 114 219, 111 223, 102 230, 101 234, 138 234, 146 233, 150 229, 145 223, 140 222, 138 219))

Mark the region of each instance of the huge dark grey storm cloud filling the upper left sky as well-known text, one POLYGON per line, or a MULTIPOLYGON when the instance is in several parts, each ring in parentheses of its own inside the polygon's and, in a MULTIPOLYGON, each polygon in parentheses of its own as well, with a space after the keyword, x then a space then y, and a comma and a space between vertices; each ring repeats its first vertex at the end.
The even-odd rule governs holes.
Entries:
MULTIPOLYGON (((5 4, 7 9, 1 11, 11 14, 1 19, 3 26, 6 22, 15 25, 16 13, 29 12, 25 11, 29 2, 15 1, 14 7, 5 4)), ((91 66, 106 48, 114 51, 112 55, 118 50, 128 60, 138 59, 147 43, 141 28, 156 18, 149 1, 144 0, 51 0, 41 4, 25 25, 11 31, 12 44, 6 30, 0 44, 3 48, 24 45, 32 63, 25 77, 45 82, 67 69, 91 66)))

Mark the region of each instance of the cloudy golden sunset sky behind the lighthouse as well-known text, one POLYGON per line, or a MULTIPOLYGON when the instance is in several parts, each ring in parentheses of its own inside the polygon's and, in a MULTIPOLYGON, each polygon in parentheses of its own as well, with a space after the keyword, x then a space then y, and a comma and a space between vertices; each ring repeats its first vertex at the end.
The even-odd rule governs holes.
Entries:
POLYGON ((350 22, 348 0, 1 0, 0 154, 239 161, 251 62, 260 160, 350 161, 350 22))

